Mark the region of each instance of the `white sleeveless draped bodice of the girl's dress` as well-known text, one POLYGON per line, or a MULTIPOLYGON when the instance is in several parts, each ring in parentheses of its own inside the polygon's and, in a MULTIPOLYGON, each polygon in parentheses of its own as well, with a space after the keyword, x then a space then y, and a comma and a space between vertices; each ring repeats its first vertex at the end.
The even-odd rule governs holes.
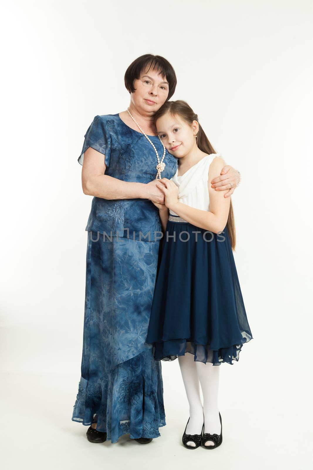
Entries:
MULTIPOLYGON (((209 178, 209 166, 215 157, 221 157, 220 153, 211 153, 201 158, 195 165, 191 166, 182 176, 175 175, 171 178, 178 186, 178 201, 180 203, 201 209, 210 210, 209 190, 207 180, 209 178)), ((178 215, 169 209, 170 215, 178 215)))

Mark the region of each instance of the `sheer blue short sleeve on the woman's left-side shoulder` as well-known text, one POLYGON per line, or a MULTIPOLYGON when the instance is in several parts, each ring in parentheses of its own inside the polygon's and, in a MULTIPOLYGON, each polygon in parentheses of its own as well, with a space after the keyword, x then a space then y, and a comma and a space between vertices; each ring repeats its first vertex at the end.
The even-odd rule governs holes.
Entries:
POLYGON ((84 152, 88 147, 92 147, 92 149, 97 150, 105 156, 104 163, 109 166, 111 155, 111 135, 107 130, 106 121, 102 116, 95 116, 93 118, 84 138, 83 149, 77 159, 78 163, 81 165, 83 164, 84 152))

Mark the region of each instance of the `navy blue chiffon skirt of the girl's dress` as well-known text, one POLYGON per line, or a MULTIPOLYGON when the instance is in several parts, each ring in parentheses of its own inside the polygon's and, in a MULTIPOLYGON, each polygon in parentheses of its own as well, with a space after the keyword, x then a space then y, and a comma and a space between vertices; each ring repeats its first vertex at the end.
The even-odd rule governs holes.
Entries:
POLYGON ((146 338, 154 359, 190 352, 197 361, 232 365, 250 339, 227 227, 217 235, 168 221, 146 338))

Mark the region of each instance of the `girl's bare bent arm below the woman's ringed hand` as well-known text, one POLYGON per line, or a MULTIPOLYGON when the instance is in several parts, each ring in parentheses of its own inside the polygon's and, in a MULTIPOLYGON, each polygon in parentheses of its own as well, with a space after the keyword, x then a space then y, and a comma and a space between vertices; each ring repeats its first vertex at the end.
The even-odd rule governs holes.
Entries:
POLYGON ((210 211, 202 211, 201 209, 195 209, 180 203, 177 197, 171 197, 169 194, 167 196, 167 189, 164 189, 165 204, 168 209, 171 209, 196 227, 204 228, 216 234, 221 232, 227 224, 230 198, 224 197, 222 192, 215 191, 214 188, 211 188, 210 183, 213 178, 221 173, 223 166, 225 166, 225 162, 221 157, 215 157, 210 164, 207 184, 210 197, 210 211))

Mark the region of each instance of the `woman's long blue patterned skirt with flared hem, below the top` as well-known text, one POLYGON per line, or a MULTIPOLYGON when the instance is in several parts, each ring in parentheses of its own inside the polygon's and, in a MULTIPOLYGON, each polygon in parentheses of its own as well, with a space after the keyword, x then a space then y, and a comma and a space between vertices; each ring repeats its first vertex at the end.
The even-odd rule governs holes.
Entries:
POLYGON ((88 232, 81 377, 72 421, 116 442, 165 426, 160 362, 145 343, 160 241, 88 232), (94 241, 93 241, 94 240, 94 241))

